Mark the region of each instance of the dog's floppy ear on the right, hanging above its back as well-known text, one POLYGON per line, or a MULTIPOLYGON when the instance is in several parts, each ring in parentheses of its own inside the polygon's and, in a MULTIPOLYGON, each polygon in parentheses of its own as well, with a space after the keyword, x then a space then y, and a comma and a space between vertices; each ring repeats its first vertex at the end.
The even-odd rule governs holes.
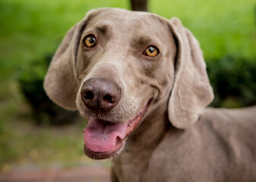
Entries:
POLYGON ((201 111, 213 100, 213 89, 197 39, 176 17, 170 20, 170 28, 177 55, 168 115, 173 126, 185 129, 198 120, 201 111))

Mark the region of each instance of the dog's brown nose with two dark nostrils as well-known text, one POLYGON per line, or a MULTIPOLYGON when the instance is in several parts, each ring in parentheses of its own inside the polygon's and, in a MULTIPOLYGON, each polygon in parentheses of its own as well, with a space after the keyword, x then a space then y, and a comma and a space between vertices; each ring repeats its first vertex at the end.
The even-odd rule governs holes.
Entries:
POLYGON ((84 105, 92 111, 109 111, 121 98, 121 88, 109 80, 91 78, 81 89, 84 105))

